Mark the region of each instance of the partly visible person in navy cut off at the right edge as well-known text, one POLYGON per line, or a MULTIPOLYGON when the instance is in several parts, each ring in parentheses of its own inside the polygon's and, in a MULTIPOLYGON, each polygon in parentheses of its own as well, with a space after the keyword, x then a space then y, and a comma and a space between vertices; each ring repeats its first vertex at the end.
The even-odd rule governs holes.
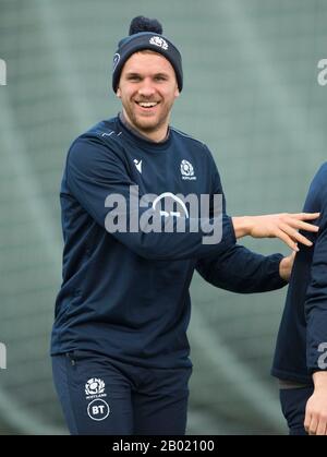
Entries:
POLYGON ((298 252, 271 373, 291 435, 327 434, 327 164, 315 176, 304 211, 319 212, 314 249, 298 252))

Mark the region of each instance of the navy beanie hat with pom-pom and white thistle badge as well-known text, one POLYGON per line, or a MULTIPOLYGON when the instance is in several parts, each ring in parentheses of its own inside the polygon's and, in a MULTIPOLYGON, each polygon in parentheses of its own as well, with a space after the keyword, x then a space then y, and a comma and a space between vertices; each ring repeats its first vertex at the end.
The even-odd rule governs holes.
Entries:
POLYGON ((137 51, 150 49, 159 52, 172 64, 179 91, 183 88, 182 57, 169 39, 162 36, 161 24, 144 16, 134 17, 130 25, 130 36, 118 44, 113 56, 112 88, 117 92, 120 75, 126 60, 137 51))

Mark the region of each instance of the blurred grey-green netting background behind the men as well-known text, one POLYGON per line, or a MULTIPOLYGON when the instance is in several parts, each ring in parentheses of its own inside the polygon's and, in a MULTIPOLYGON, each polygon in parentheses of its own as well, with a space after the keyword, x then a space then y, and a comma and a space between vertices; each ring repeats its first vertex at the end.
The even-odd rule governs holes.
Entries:
MULTIPOLYGON (((1 433, 64 431, 48 357, 62 166, 77 134, 119 111, 111 57, 138 14, 181 49, 173 124, 211 148, 230 214, 300 211, 326 157, 325 0, 0 0, 1 433)), ((284 293, 241 297, 194 277, 189 433, 286 433, 269 376, 284 293)))

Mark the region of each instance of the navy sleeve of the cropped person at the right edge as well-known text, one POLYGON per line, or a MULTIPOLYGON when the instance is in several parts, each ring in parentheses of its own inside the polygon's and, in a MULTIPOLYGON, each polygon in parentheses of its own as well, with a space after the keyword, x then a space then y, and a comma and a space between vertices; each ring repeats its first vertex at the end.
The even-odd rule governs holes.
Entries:
MULTIPOLYGON (((327 199, 326 199, 327 203, 327 199)), ((314 245, 311 282, 306 290, 306 364, 308 371, 327 369, 327 204, 314 245)))

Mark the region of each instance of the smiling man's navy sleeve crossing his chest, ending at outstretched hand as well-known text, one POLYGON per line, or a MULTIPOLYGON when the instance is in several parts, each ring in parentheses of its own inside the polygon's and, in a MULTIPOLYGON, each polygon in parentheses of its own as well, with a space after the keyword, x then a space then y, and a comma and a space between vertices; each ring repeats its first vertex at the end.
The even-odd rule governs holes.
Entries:
MULTIPOLYGON (((120 216, 125 217, 126 228, 130 227, 131 215, 135 215, 135 205, 133 208, 130 205, 130 192, 131 187, 135 187, 136 183, 131 180, 126 165, 113 146, 104 144, 96 136, 77 139, 69 151, 65 173, 70 192, 97 224, 108 227, 106 218, 112 209, 119 216, 119 208, 105 203, 108 202, 107 197, 118 195, 124 201, 120 216)), ((148 211, 140 206, 141 197, 142 195, 134 195, 134 199, 138 199, 137 221, 148 211)), ((196 232, 190 231, 195 221, 190 218, 185 218, 185 230, 175 232, 177 219, 175 216, 160 216, 159 231, 152 231, 145 223, 143 230, 117 230, 110 231, 110 234, 140 256, 153 260, 198 258, 213 253, 219 256, 235 243, 232 223, 227 215, 202 219, 196 232), (221 241, 216 244, 204 243, 203 240, 210 237, 208 229, 214 227, 214 224, 222 226, 221 241), (172 230, 165 231, 167 227, 172 227, 172 230)), ((147 220, 147 217, 144 220, 147 220)))

